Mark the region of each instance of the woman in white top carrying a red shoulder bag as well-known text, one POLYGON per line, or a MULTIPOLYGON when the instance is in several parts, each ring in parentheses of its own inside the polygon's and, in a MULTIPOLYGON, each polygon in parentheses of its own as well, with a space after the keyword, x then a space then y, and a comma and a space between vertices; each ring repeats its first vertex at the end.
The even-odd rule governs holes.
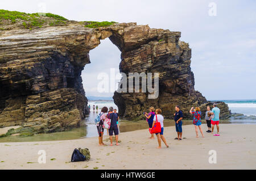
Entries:
POLYGON ((164 144, 166 145, 166 147, 169 148, 169 146, 167 145, 167 142, 166 142, 166 138, 164 138, 164 136, 163 136, 163 130, 164 130, 163 129, 163 120, 164 120, 164 117, 161 115, 162 110, 156 109, 155 113, 156 113, 156 115, 154 116, 154 121, 153 121, 152 127, 154 127, 154 125, 156 123, 156 120, 159 121, 160 125, 161 125, 161 132, 160 133, 155 133, 156 137, 158 138, 158 145, 159 145, 158 148, 161 148, 161 139, 164 142, 164 144))

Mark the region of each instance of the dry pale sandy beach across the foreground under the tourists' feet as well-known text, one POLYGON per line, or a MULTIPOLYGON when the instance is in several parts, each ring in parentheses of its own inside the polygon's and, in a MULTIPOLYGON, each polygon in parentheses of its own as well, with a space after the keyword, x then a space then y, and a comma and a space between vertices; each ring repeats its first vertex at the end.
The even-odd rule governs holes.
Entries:
POLYGON ((221 136, 205 132, 204 138, 196 138, 193 125, 184 125, 185 138, 177 141, 175 127, 165 127, 168 149, 164 144, 157 149, 156 138, 148 139, 146 129, 119 134, 119 146, 109 146, 108 141, 108 146, 98 146, 97 137, 2 142, 0 169, 256 169, 255 129, 256 124, 221 124, 221 136), (79 147, 90 150, 90 161, 70 162, 79 147), (38 163, 39 150, 46 150, 46 163, 38 163), (209 150, 216 150, 217 163, 209 163, 209 150))

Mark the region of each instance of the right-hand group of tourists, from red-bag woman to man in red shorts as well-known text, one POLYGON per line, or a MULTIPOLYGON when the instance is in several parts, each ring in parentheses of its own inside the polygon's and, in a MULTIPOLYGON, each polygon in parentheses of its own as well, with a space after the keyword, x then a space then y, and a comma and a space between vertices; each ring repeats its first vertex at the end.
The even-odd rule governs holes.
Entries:
MULTIPOLYGON (((154 109, 154 107, 150 107, 149 108, 149 113, 144 112, 144 116, 147 119, 147 123, 148 123, 148 127, 150 129, 152 129, 155 125, 155 121, 158 120, 160 122, 161 125, 161 132, 160 132, 160 136, 159 133, 156 133, 156 136, 158 138, 158 148, 161 148, 161 140, 164 142, 164 144, 166 145, 166 147, 168 148, 169 146, 167 145, 166 139, 163 136, 163 116, 160 115, 162 113, 162 110, 160 109, 154 109), (155 111, 155 112, 154 112, 155 111)), ((198 128, 201 132, 202 137, 204 137, 204 133, 203 130, 201 128, 201 111, 199 107, 192 107, 191 110, 189 111, 189 113, 191 113, 193 115, 193 125, 195 126, 195 131, 196 131, 196 137, 199 137, 198 134, 198 128)), ((175 121, 175 128, 176 128, 176 132, 177 132, 177 137, 175 138, 175 140, 182 140, 182 124, 183 124, 183 112, 180 110, 179 106, 175 106, 175 113, 174 113, 174 121, 175 121)), ((205 113, 205 121, 207 122, 207 127, 208 130, 207 132, 213 133, 214 130, 214 125, 216 125, 217 127, 217 134, 214 134, 214 136, 220 136, 219 134, 219 121, 220 121, 220 109, 217 107, 217 104, 214 103, 213 104, 213 109, 212 111, 210 111, 210 106, 207 106, 207 111, 205 113), (210 130, 212 128, 212 130, 210 130)), ((151 139, 154 139, 154 134, 151 134, 151 139)))

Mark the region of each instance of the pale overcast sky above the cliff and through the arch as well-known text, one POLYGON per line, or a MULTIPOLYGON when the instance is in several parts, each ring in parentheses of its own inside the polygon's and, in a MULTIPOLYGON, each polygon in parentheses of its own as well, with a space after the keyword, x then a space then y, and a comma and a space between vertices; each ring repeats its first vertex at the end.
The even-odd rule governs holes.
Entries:
MULTIPOLYGON (((180 31, 192 49, 195 89, 208 100, 256 99, 256 1, 1 1, 0 9, 51 12, 69 20, 137 22, 180 31), (216 16, 209 15, 209 3, 216 16)), ((212 11, 210 11, 212 12, 212 11)), ((97 75, 118 71, 120 51, 109 39, 90 51, 82 78, 86 96, 97 92, 97 75)))

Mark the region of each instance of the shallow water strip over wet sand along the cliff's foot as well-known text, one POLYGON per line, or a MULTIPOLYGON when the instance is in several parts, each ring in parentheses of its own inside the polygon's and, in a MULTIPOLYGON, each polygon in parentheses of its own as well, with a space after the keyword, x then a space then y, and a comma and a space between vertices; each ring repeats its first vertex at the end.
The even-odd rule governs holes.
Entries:
MULTIPOLYGON (((0 138, 0 142, 28 142, 28 141, 54 141, 54 140, 73 140, 85 137, 94 137, 98 136, 96 125, 94 124, 94 118, 96 117, 97 112, 91 112, 88 117, 85 118, 81 123, 80 128, 74 128, 71 131, 65 132, 56 132, 56 133, 46 133, 46 134, 36 134, 29 137, 20 137, 20 136, 9 136, 0 138)), ((205 121, 202 121, 203 124, 206 124, 205 121)), ((220 124, 255 124, 255 120, 223 120, 220 121, 220 124)), ((192 124, 192 120, 184 120, 183 125, 192 124)), ((164 127, 174 126, 174 120, 164 120, 164 127)), ((119 131, 130 132, 136 131, 139 129, 148 129, 148 124, 146 120, 141 120, 138 122, 120 120, 119 121, 119 131)), ((107 135, 106 130, 104 135, 107 135)))

